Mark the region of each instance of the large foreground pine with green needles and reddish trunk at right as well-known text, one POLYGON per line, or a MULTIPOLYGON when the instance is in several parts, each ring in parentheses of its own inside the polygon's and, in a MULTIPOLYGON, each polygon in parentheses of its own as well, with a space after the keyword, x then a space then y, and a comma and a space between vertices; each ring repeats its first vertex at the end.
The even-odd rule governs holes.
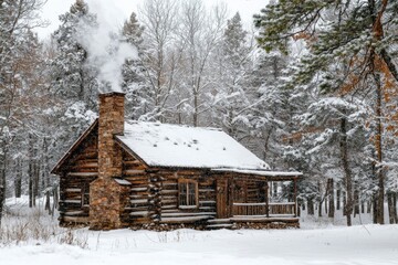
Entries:
POLYGON ((378 179, 377 222, 384 223, 385 162, 383 149, 383 88, 385 68, 397 83, 398 71, 391 56, 397 42, 394 19, 398 14, 395 1, 275 1, 254 17, 260 29, 259 43, 266 51, 279 49, 287 53, 292 38, 305 39, 308 53, 302 59, 292 84, 308 84, 322 75, 320 85, 329 93, 346 89, 376 92, 375 150, 378 179), (305 10, 305 11, 304 11, 305 10), (334 74, 338 64, 345 71, 334 74), (369 85, 370 84, 370 85, 369 85))

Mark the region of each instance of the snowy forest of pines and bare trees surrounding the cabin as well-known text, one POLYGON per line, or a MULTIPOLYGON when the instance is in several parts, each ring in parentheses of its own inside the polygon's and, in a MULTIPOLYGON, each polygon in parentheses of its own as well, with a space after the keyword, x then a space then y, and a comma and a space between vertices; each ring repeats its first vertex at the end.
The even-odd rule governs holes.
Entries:
POLYGON ((43 4, 0 0, 0 220, 6 198, 55 190, 51 167, 113 89, 129 119, 221 127, 302 171, 308 214, 385 223, 387 203, 398 222, 397 1, 270 1, 248 31, 222 3, 146 0, 111 32, 76 0, 46 41, 43 4))

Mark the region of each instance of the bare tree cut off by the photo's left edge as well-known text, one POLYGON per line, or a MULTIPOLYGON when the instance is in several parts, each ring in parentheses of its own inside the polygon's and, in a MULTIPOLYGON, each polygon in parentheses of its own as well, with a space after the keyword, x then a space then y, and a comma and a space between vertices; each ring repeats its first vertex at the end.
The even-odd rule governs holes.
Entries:
POLYGON ((0 0, 0 222, 6 198, 7 165, 13 125, 20 109, 19 88, 22 68, 18 54, 31 38, 31 29, 43 25, 38 10, 43 0, 0 0))

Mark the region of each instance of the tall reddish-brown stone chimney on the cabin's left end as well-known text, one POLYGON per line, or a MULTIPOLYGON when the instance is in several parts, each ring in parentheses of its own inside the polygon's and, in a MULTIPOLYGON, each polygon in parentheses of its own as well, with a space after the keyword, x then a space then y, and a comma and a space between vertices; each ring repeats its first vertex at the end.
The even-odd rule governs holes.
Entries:
POLYGON ((90 184, 90 227, 111 230, 126 226, 121 220, 129 188, 122 177, 122 149, 115 135, 124 134, 124 93, 100 95, 98 178, 90 184))

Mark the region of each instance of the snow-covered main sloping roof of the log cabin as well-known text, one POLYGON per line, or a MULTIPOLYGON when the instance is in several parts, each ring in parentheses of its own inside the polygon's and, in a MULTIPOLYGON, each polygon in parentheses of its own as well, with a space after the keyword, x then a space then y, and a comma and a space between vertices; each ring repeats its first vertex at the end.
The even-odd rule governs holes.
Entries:
POLYGON ((270 167, 220 129, 127 121, 128 149, 151 167, 269 170, 270 167))

